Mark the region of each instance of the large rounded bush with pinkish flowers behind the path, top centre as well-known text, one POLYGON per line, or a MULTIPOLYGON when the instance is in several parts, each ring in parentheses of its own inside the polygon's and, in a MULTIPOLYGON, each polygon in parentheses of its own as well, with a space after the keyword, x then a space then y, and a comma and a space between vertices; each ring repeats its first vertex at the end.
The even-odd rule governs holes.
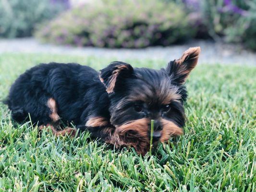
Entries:
POLYGON ((160 0, 102 0, 61 14, 36 36, 77 46, 167 46, 194 34, 182 8, 160 0))

